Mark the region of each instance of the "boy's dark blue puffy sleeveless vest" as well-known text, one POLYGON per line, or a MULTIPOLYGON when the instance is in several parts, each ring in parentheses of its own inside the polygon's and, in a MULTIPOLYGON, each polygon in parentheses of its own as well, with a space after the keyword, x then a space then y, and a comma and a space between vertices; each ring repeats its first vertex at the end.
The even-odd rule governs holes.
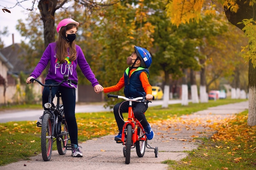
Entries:
POLYGON ((135 71, 132 72, 129 82, 128 82, 129 68, 126 68, 126 71, 124 72, 124 95, 126 97, 135 98, 135 97, 146 96, 146 92, 144 91, 144 88, 139 79, 139 75, 143 71, 146 72, 146 74, 149 77, 148 68, 139 67, 135 71))

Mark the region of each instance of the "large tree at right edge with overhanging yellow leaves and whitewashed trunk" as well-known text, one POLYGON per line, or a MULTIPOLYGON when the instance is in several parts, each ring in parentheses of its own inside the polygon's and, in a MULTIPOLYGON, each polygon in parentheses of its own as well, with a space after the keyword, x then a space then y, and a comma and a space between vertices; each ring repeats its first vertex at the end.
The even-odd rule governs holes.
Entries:
MULTIPOLYGON (((203 3, 204 0, 195 0, 192 3, 187 0, 172 0, 168 1, 166 11, 168 16, 171 17, 171 22, 177 26, 181 23, 191 21, 199 22, 203 3)), ((216 13, 216 10, 222 9, 220 12, 225 12, 229 22, 244 31, 245 35, 249 37, 249 43, 247 45, 249 48, 249 52, 247 53, 249 60, 249 113, 247 124, 249 126, 256 125, 256 41, 254 35, 255 31, 253 31, 256 25, 256 15, 253 14, 256 9, 254 8, 254 3, 254 0, 222 0, 222 6, 219 6, 216 2, 216 4, 212 5, 211 9, 203 9, 205 14, 216 13)))

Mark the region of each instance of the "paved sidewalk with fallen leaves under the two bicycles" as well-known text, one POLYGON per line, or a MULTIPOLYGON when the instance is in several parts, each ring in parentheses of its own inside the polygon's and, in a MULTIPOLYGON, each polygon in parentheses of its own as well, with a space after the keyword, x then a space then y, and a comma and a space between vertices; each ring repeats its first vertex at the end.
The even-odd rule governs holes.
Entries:
POLYGON ((31 157, 29 161, 19 161, 2 166, 0 170, 34 170, 43 167, 47 170, 56 170, 58 166, 69 170, 117 170, 119 168, 167 170, 168 165, 161 163, 162 161, 180 160, 188 155, 183 151, 198 147, 200 141, 193 140, 193 137, 211 137, 214 131, 207 125, 225 121, 245 109, 248 109, 248 101, 212 107, 192 115, 166 120, 161 122, 161 126, 157 126, 157 121, 152 122, 151 126, 155 137, 148 141, 148 144, 153 148, 158 147, 157 158, 155 158, 153 149, 146 148, 144 157, 139 158, 135 148, 132 148, 130 164, 125 164, 123 145, 115 143, 115 135, 108 135, 79 144, 83 147, 81 149, 83 151, 82 158, 71 157, 70 150, 66 155, 58 155, 58 152, 54 151, 51 161, 43 161, 39 154, 31 157))

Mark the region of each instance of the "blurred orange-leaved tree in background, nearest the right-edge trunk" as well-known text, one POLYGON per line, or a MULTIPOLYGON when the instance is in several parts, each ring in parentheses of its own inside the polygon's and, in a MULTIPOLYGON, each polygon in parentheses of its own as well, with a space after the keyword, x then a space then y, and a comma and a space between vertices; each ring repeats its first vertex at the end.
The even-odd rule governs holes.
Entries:
MULTIPOLYGON (((227 79, 227 83, 234 78, 234 82, 239 82, 240 78, 234 74, 246 74, 245 61, 241 57, 240 47, 245 46, 248 39, 236 26, 229 24, 228 30, 222 35, 213 38, 211 46, 207 45, 205 54, 207 55, 207 91, 220 89, 220 77, 227 79)), ((233 83, 230 83, 231 86, 233 83)), ((240 86, 234 84, 232 89, 236 89, 240 94, 240 86)), ((244 90, 246 90, 244 88, 244 90)), ((232 97, 232 94, 231 94, 232 97)), ((240 98, 238 95, 234 98, 240 98)))

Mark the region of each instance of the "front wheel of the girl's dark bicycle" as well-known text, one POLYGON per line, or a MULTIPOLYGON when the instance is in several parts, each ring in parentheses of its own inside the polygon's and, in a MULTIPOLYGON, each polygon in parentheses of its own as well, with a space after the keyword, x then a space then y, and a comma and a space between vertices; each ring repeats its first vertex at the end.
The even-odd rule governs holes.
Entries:
POLYGON ((49 161, 52 156, 52 122, 51 114, 45 113, 42 120, 42 132, 41 132, 41 150, 44 161, 49 161))

